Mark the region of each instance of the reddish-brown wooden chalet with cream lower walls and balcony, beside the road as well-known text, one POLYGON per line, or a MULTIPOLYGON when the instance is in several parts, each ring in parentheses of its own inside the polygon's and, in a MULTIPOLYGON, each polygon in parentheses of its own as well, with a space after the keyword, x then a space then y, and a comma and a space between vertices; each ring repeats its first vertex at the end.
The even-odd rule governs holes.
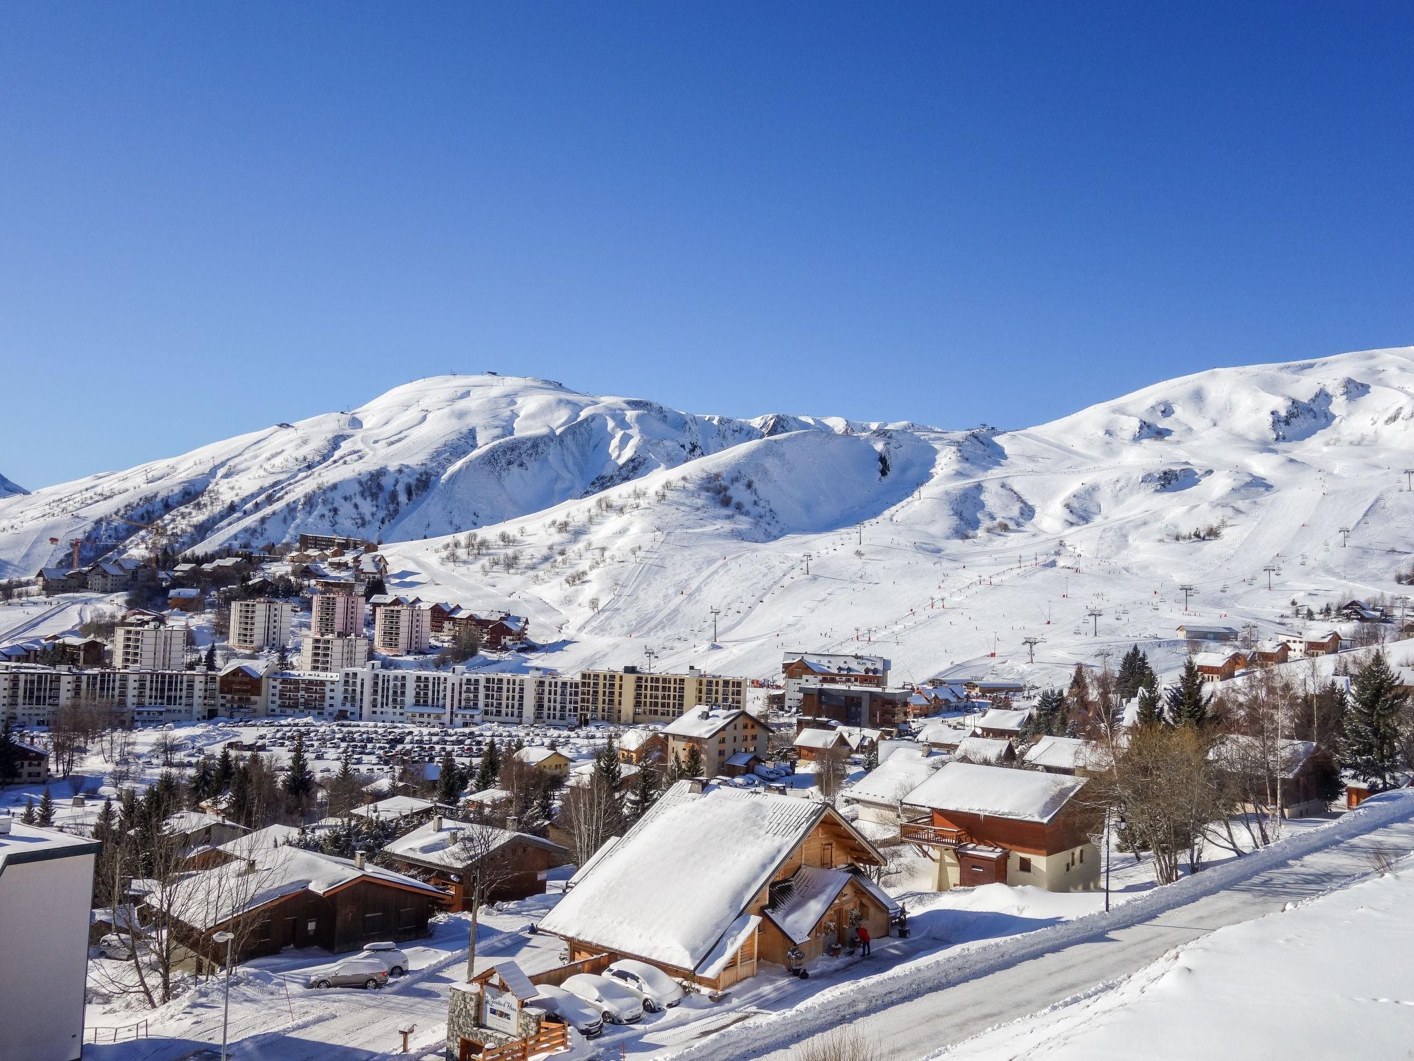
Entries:
POLYGON ((1031 884, 1046 891, 1099 887, 1100 852, 1089 812, 1075 802, 1083 778, 949 763, 904 796, 918 816, 899 836, 936 862, 939 891, 1031 884))

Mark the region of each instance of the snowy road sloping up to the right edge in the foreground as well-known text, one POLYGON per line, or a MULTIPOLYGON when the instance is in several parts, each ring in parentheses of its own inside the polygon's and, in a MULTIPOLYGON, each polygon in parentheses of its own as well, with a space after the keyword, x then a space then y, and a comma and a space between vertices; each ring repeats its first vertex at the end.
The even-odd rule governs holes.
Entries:
MULTIPOLYGON (((1072 995, 1138 972, 1168 951, 1217 928, 1250 921, 1280 911, 1285 903, 1322 895, 1367 879, 1374 873, 1372 850, 1414 850, 1414 798, 1404 796, 1398 804, 1393 808, 1400 815, 1397 821, 1383 825, 1340 822, 1335 826, 1342 835, 1339 842, 1287 859, 1220 891, 1159 910, 1151 917, 1130 918, 1128 924, 1111 928, 1100 925, 1093 932, 1076 932, 1073 938, 1062 935, 1059 945, 1051 949, 1044 949, 1044 934, 1035 934, 1034 941, 1017 937, 1005 944, 1011 958, 1003 956, 990 965, 978 962, 976 973, 967 969, 971 955, 960 953, 953 961, 956 975, 947 978, 945 973, 945 979, 953 982, 928 993, 911 986, 908 979, 895 979, 884 989, 884 1002, 880 1003, 880 993, 870 990, 867 982, 860 982, 860 990, 833 999, 829 1007, 775 1014, 769 1023, 713 1036, 680 1055, 693 1061, 790 1061, 797 1057, 796 1047, 803 1038, 850 1023, 875 1047, 878 1058, 918 1061, 995 1024, 1018 1020, 1072 995), (1031 949, 1028 942, 1032 946, 1041 944, 1034 958, 1027 958, 1031 949), (911 993, 919 997, 904 1000, 911 993), (889 997, 901 1000, 889 1004, 889 997)), ((1241 862, 1232 864, 1234 874, 1241 862)), ((1219 871, 1212 873, 1216 876, 1219 871)), ((1193 883, 1200 880, 1202 874, 1193 883)), ((1116 912, 1120 910, 1123 907, 1116 912)), ((919 976, 918 982, 922 979, 919 976)))

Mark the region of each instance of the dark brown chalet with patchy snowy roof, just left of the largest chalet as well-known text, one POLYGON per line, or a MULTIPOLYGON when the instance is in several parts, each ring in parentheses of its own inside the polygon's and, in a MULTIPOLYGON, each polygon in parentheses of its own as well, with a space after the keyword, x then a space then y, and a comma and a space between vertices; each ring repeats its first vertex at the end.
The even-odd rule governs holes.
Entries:
POLYGON ((482 903, 543 895, 546 873, 570 860, 557 843, 529 833, 437 816, 389 843, 383 853, 402 870, 448 894, 454 911, 469 910, 468 883, 489 884, 482 903))

